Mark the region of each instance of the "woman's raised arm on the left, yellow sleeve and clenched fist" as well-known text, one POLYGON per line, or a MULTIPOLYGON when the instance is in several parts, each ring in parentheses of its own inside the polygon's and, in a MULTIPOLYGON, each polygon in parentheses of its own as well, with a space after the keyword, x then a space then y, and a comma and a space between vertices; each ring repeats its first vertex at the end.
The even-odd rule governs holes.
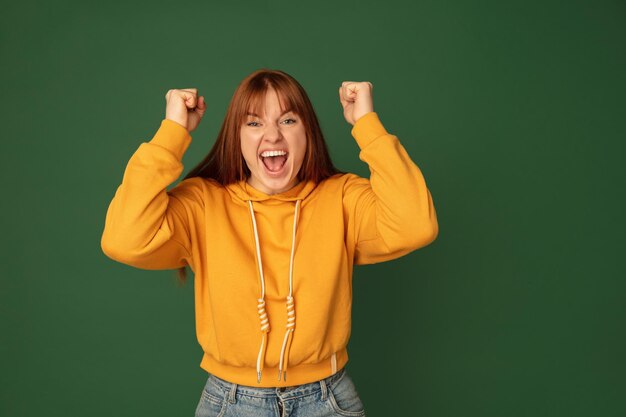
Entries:
POLYGON ((167 187, 183 171, 182 157, 206 102, 197 99, 195 88, 169 90, 165 98, 165 119, 130 158, 109 204, 100 244, 109 258, 137 268, 193 269, 192 242, 204 210, 202 179, 167 187))

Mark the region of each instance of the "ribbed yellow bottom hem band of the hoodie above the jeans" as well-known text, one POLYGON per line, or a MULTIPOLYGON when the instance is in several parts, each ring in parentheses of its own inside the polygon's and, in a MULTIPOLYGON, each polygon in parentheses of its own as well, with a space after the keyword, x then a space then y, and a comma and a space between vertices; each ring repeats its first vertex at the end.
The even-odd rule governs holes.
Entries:
POLYGON ((200 367, 225 381, 257 388, 290 387, 308 384, 334 375, 348 363, 348 350, 343 348, 327 359, 315 364, 289 365, 287 381, 278 380, 278 367, 264 367, 261 382, 257 383, 256 368, 226 365, 206 353, 200 367), (334 358, 334 360, 333 360, 334 358))

